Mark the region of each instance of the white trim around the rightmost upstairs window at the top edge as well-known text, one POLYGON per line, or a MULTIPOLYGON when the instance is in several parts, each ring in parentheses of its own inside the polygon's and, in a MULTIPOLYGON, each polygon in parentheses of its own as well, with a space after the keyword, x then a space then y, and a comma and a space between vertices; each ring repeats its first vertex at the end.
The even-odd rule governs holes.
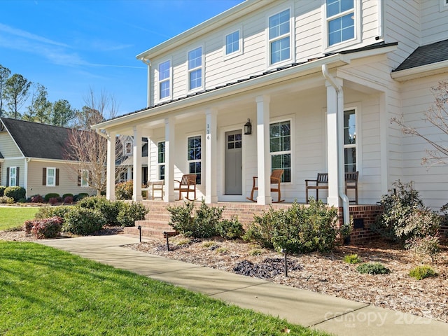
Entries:
MULTIPOLYGON (((329 38, 328 38, 328 22, 330 22, 329 19, 335 19, 335 18, 340 18, 348 13, 351 13, 352 10, 346 10, 345 12, 339 13, 338 15, 333 15, 330 18, 327 18, 327 0, 322 0, 323 4, 323 10, 322 10, 322 26, 323 26, 323 31, 325 32, 323 39, 324 39, 324 43, 322 43, 322 47, 323 53, 326 52, 332 52, 333 50, 339 50, 339 49, 343 49, 346 48, 349 45, 354 45, 356 43, 360 43, 360 36, 361 36, 361 32, 360 32, 360 15, 361 15, 361 4, 360 1, 358 0, 353 0, 353 15, 355 16, 355 22, 354 22, 354 37, 350 38, 349 40, 346 41, 341 41, 339 43, 335 43, 333 45, 328 45, 329 43, 329 38)), ((378 4, 378 8, 377 10, 381 10, 381 8, 379 8, 379 6, 382 6, 381 4, 378 4)))

